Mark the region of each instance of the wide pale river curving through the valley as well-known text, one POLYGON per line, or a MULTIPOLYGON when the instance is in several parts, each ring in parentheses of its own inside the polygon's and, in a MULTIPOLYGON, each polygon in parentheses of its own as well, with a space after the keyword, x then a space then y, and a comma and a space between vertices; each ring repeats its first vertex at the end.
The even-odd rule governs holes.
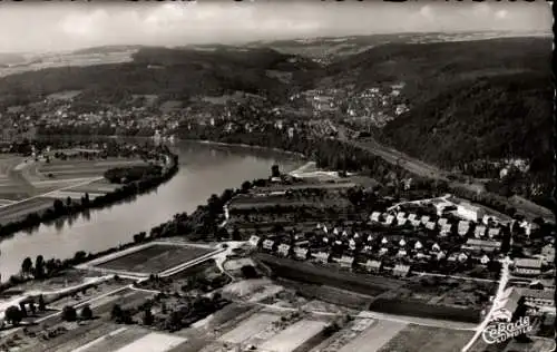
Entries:
POLYGON ((240 187, 246 179, 268 176, 273 164, 278 164, 282 172, 304 164, 294 155, 236 146, 178 141, 172 149, 179 156, 179 172, 156 192, 138 196, 134 202, 91 211, 89 216, 41 225, 32 233, 18 233, 1 241, 2 281, 18 273, 27 256, 33 262, 39 254, 45 260, 67 258, 78 251, 95 253, 117 246, 176 213, 193 213, 212 194, 240 187))

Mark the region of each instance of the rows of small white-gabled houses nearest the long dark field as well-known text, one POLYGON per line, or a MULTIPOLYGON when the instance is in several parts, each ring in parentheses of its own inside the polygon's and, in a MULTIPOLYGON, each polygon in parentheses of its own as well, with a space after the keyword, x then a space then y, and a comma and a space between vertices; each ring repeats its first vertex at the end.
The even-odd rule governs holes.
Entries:
MULTIPOLYGON (((377 218, 377 214, 372 214, 372 217, 377 218)), ((323 264, 333 262, 345 268, 354 267, 354 264, 358 264, 359 267, 374 273, 384 272, 385 262, 394 262, 398 263, 392 267, 392 273, 395 275, 408 274, 410 265, 404 263, 412 264, 431 260, 460 263, 475 260, 487 265, 495 258, 495 254, 500 247, 500 242, 470 238, 471 241, 462 246, 465 250, 449 253, 452 242, 446 239, 419 239, 399 232, 397 234, 361 235, 336 227, 330 229, 322 224, 317 224, 316 229, 317 236, 322 237, 322 244, 314 245, 312 250, 309 248, 309 241, 304 238, 297 241, 297 236, 296 242, 292 245, 289 244, 292 243, 291 241, 281 243, 275 238, 260 238, 255 235, 251 237, 250 242, 253 246, 278 256, 291 256, 302 261, 311 260, 323 264), (342 255, 332 255, 332 253, 338 252, 334 251, 335 247, 343 247, 346 251, 340 251, 342 255), (356 247, 359 247, 361 255, 354 255, 356 247), (361 257, 363 261, 354 263, 355 257, 361 257)))

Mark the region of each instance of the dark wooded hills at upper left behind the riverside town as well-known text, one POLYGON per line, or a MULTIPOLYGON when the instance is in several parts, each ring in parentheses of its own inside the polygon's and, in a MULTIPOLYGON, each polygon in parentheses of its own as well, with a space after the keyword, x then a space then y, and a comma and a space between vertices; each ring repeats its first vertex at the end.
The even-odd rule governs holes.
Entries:
POLYGON ((282 99, 289 89, 311 81, 316 66, 292 60, 270 49, 247 51, 143 48, 128 63, 51 68, 0 78, 0 105, 40 99, 62 90, 82 90, 80 99, 118 102, 130 95, 158 95, 187 100, 190 96, 219 96, 236 90, 282 99), (293 74, 290 85, 267 70, 293 74))

